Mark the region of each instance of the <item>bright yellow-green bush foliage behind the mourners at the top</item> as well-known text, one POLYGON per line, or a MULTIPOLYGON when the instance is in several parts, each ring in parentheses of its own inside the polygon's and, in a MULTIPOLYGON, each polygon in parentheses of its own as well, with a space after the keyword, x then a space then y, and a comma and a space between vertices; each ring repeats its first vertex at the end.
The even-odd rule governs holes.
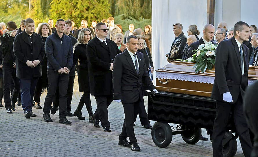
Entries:
POLYGON ((77 27, 81 25, 81 20, 87 20, 90 27, 91 21, 101 21, 111 16, 110 4, 106 0, 55 0, 50 6, 50 17, 54 21, 72 19, 77 27))

